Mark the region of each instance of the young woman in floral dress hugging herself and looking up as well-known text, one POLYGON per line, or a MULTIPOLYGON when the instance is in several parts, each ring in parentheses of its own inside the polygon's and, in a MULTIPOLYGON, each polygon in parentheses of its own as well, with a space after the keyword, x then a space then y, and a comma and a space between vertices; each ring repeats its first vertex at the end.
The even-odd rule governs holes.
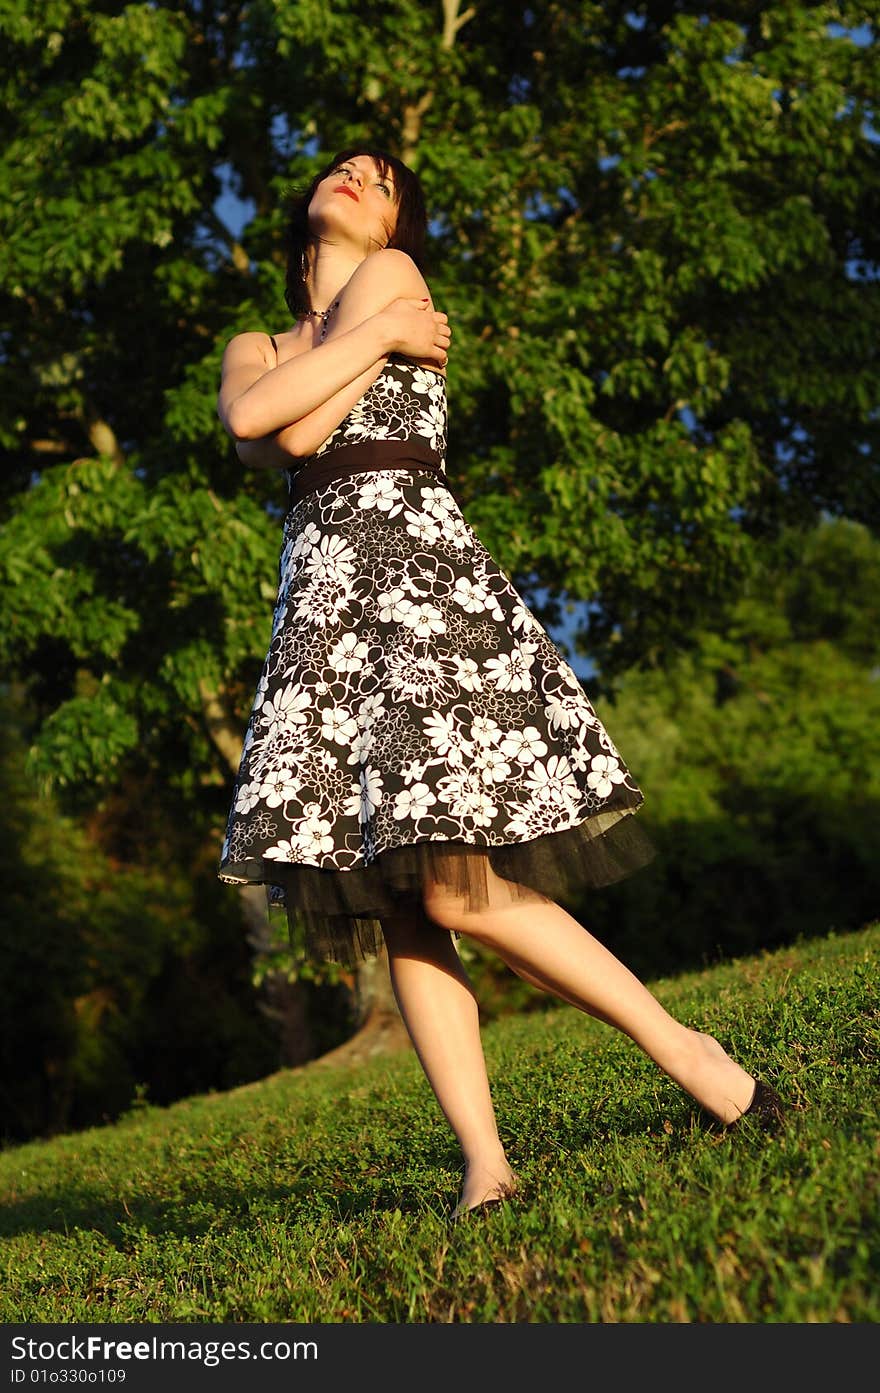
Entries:
POLYGON ((220 418, 245 464, 284 471, 290 510, 219 873, 265 883, 319 956, 384 942, 464 1153, 459 1216, 517 1188, 459 935, 624 1031, 721 1124, 783 1106, 557 903, 653 847, 575 674, 450 492, 425 231, 412 170, 343 150, 292 209, 295 323, 226 350, 220 418))

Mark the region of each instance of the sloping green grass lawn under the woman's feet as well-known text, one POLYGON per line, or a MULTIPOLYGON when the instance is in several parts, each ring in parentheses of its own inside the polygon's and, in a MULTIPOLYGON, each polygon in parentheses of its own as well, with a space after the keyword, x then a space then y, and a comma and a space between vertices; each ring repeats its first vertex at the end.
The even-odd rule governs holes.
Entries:
POLYGON ((0 1155, 0 1321, 873 1322, 880 926, 652 983, 794 1105, 717 1134, 571 1007, 483 1031, 524 1198, 450 1227, 411 1053, 0 1155))

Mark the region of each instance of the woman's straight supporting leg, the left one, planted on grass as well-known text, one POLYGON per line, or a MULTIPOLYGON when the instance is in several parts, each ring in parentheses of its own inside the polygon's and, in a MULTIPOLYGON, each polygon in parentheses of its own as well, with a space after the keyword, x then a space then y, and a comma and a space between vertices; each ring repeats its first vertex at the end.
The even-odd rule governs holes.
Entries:
POLYGON ((400 1013, 464 1153, 458 1213, 515 1181, 492 1105, 476 999, 446 929, 415 910, 383 918, 382 931, 400 1013))

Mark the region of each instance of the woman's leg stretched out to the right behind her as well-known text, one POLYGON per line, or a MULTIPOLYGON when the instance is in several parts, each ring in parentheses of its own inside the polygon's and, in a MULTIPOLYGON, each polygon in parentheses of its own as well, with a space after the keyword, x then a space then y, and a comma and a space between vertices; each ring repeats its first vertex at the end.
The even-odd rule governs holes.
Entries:
POLYGON ((624 1031, 720 1121, 748 1107, 755 1080, 710 1035, 688 1029, 561 905, 535 894, 517 898, 487 866, 489 904, 468 912, 443 885, 426 889, 425 908, 444 929, 493 949, 515 972, 624 1031))

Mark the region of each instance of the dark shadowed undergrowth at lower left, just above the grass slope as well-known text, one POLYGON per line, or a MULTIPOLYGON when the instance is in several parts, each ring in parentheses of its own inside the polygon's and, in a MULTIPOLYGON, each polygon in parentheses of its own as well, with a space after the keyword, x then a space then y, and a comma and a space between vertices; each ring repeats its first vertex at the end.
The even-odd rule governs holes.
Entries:
MULTIPOLYGON (((74 768, 93 752, 97 708, 75 709, 86 736, 58 755, 74 768)), ((209 868, 182 819, 163 825, 167 795, 129 775, 99 818, 65 816, 25 777, 7 694, 0 715, 0 1138, 118 1117, 138 1089, 167 1102, 263 1075, 276 1046, 237 907, 199 887, 209 868)))

